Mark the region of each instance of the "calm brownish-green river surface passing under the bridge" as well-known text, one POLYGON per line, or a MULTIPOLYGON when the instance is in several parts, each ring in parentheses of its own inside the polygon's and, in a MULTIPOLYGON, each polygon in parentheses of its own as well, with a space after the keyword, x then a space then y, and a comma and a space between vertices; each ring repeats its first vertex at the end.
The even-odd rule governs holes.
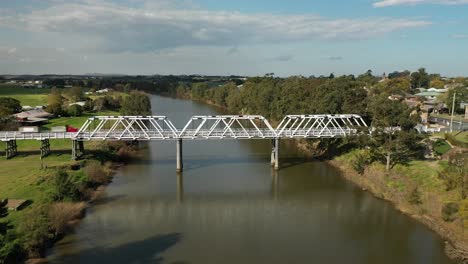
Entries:
MULTIPOLYGON (((183 127, 203 104, 152 96, 183 127)), ((123 167, 50 263, 452 263, 425 226, 361 191, 323 162, 268 140, 150 142, 123 167)))

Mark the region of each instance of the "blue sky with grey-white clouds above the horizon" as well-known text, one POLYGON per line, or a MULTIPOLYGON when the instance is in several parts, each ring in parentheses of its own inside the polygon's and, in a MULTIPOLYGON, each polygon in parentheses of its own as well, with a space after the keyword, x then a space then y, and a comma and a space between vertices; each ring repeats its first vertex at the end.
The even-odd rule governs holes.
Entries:
POLYGON ((468 0, 1 0, 0 74, 468 75, 468 0))

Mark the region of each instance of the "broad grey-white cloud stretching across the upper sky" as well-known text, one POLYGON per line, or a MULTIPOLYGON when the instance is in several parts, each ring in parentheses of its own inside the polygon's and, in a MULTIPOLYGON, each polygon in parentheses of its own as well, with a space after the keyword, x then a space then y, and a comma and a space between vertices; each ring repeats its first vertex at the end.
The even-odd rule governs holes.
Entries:
POLYGON ((82 36, 82 48, 86 50, 147 52, 182 46, 367 39, 431 24, 420 19, 388 17, 327 19, 314 15, 208 11, 165 4, 170 3, 167 0, 142 3, 129 8, 100 0, 59 1, 27 14, 4 16, 0 26, 56 33, 62 38, 82 36))

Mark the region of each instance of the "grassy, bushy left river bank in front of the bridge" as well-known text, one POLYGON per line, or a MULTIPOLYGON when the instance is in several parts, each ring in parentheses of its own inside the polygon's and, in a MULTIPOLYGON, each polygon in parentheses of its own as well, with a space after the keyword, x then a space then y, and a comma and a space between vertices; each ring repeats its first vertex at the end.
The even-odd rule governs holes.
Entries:
POLYGON ((88 143, 86 155, 72 161, 61 142, 53 142, 51 148, 52 153, 40 160, 36 151, 21 144, 17 157, 0 159, 2 199, 27 201, 25 208, 2 218, 8 230, 1 241, 5 263, 34 263, 44 257, 85 216, 122 164, 137 155, 125 144, 88 143))

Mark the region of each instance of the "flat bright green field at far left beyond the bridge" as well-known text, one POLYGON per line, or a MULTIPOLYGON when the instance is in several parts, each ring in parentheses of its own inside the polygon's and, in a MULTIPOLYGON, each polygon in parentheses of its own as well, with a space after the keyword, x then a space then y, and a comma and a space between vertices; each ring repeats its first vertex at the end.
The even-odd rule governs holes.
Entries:
POLYGON ((23 106, 45 105, 49 93, 48 88, 23 88, 15 84, 0 84, 0 96, 13 97, 23 106))

